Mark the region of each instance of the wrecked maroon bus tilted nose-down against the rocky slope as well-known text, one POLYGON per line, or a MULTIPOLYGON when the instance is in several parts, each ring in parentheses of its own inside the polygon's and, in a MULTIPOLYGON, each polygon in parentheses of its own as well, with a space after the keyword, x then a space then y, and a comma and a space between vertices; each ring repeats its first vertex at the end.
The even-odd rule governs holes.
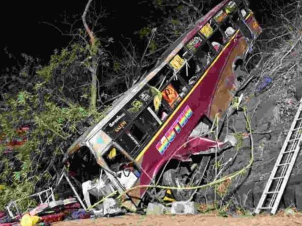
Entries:
MULTIPOLYGON (((209 154, 228 142, 190 136, 198 125, 221 119, 245 79, 241 65, 261 33, 248 2, 224 0, 197 21, 153 70, 119 98, 106 117, 68 149, 69 175, 82 186, 87 206, 137 185, 183 187, 194 170, 204 172, 209 154)), ((191 178, 192 179, 192 178, 191 178)), ((137 206, 163 191, 127 193, 137 206)), ((186 200, 188 190, 172 189, 186 200)))

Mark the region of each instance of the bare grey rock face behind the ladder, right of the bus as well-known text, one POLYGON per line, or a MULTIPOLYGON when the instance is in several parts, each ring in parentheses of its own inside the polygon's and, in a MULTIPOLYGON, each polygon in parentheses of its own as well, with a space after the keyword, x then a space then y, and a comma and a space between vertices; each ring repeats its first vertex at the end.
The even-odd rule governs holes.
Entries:
MULTIPOLYGON (((248 95, 246 94, 246 96, 248 95)), ((252 167, 244 175, 232 181, 226 195, 233 197, 236 206, 253 209, 259 202, 280 153, 296 113, 298 101, 292 93, 272 93, 272 90, 268 90, 257 97, 249 98, 246 106, 254 132, 254 161, 252 167)), ((230 118, 229 133, 232 133, 232 130, 242 134, 247 132, 242 113, 238 112, 230 118)), ((249 136, 242 136, 242 138, 242 144, 237 147, 238 149, 235 147, 217 157, 223 166, 222 175, 229 175, 249 163, 251 157, 250 138, 249 136)), ((211 161, 212 167, 207 171, 209 181, 214 177, 214 159, 211 161)), ((219 170, 221 168, 218 169, 218 172, 219 170)), ((196 200, 211 202, 214 197, 213 193, 213 189, 200 191, 196 200)), ((279 207, 293 205, 302 209, 302 151, 295 162, 279 207)))

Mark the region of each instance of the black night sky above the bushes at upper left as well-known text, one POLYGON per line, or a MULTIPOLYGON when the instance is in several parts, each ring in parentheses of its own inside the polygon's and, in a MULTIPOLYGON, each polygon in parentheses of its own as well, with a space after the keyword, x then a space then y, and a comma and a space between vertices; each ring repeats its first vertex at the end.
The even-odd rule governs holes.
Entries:
MULTIPOLYGON (((96 0, 96 2, 100 1, 96 0)), ((146 12, 146 6, 139 5, 137 2, 103 1, 104 8, 110 13, 108 20, 104 21, 107 34, 115 39, 121 38, 121 34, 129 37, 134 30, 143 26, 141 15, 142 11, 146 12)), ((86 0, 3 1, 0 14, 2 21, 1 68, 6 67, 6 64, 10 62, 4 54, 5 47, 8 52, 16 56, 27 53, 48 59, 54 49, 62 48, 69 39, 42 22, 54 23, 63 13, 81 15, 86 3, 86 0)))

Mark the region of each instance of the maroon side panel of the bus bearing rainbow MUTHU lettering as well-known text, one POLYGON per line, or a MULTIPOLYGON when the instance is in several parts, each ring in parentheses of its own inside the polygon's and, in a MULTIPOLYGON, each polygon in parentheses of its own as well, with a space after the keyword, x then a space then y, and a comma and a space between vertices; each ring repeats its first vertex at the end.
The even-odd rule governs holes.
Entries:
MULTIPOLYGON (((173 155, 176 154, 179 147, 187 141, 190 132, 198 124, 200 117, 209 111, 209 103, 216 90, 220 72, 222 71, 222 69, 216 65, 224 65, 236 45, 237 41, 232 41, 230 45, 220 53, 220 57, 213 62, 214 65, 208 69, 207 74, 202 76, 201 82, 196 83, 188 96, 185 97, 177 107, 175 114, 169 117, 168 121, 163 125, 163 129, 155 135, 151 141, 152 143, 143 153, 141 157, 142 160, 137 159, 137 161, 141 161, 143 170, 151 177, 154 178, 162 166, 169 161, 169 159, 173 158, 173 155), (188 118, 185 118, 186 108, 188 107, 192 112, 191 114, 187 114, 188 118), (177 124, 179 128, 175 128, 177 124), (182 126, 180 124, 182 124, 182 126), (171 136, 169 131, 172 132, 171 136), (169 142, 169 140, 171 142, 169 142)), ((227 104, 229 104, 229 102, 227 104)), ((146 173, 141 174, 141 185, 148 185, 151 182, 150 177, 148 177, 146 173)), ((141 193, 144 193, 144 191, 145 189, 141 189, 141 193)))

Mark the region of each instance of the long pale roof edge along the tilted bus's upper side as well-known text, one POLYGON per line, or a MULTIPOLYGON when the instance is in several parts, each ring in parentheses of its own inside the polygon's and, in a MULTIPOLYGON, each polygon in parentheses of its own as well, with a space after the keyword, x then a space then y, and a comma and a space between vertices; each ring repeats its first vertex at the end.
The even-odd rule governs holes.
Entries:
POLYGON ((188 32, 184 33, 178 38, 160 57, 156 66, 150 70, 141 80, 139 80, 134 86, 128 89, 121 97, 114 101, 112 107, 108 108, 106 117, 99 123, 90 127, 80 138, 78 138, 69 148, 67 153, 73 153, 75 149, 81 147, 82 142, 85 142, 99 130, 101 130, 111 119, 117 114, 117 112, 150 80, 152 79, 169 61, 181 50, 185 44, 190 41, 194 35, 212 18, 223 6, 231 0, 224 0, 206 15, 200 18, 188 32))

